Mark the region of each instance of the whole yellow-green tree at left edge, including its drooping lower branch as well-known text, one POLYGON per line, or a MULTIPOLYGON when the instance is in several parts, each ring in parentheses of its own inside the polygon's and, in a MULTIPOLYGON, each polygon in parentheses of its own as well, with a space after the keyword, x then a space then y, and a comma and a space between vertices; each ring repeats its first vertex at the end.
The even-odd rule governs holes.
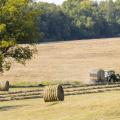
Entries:
POLYGON ((39 37, 37 12, 31 6, 30 0, 0 0, 0 72, 9 70, 12 60, 25 64, 35 52, 29 45, 18 45, 39 37))

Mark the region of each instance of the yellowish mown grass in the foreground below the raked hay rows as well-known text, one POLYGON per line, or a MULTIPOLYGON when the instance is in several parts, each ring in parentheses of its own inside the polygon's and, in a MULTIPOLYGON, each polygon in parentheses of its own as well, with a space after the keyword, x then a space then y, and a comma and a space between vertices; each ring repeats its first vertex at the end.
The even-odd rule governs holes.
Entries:
POLYGON ((43 99, 0 103, 1 120, 120 120, 120 92, 69 96, 64 102, 43 99))

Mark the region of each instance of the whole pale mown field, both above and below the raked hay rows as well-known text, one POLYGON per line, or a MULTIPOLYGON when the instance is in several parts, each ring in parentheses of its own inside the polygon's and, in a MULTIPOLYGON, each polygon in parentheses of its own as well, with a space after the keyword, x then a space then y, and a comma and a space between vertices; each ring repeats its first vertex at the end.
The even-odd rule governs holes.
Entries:
MULTIPOLYGON (((26 66, 14 64, 0 79, 24 85, 88 82, 91 69, 120 72, 119 45, 120 38, 39 44, 38 54, 26 66)), ((43 98, 0 102, 0 120, 120 120, 120 91, 65 96, 64 102, 45 103, 43 98)))

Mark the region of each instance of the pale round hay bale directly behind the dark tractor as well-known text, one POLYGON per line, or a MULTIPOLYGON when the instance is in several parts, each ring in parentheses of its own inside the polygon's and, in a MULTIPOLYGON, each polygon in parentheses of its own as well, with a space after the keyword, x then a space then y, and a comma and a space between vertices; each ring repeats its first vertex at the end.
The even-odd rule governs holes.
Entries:
POLYGON ((90 80, 94 83, 105 82, 105 71, 102 69, 95 69, 90 72, 90 80))

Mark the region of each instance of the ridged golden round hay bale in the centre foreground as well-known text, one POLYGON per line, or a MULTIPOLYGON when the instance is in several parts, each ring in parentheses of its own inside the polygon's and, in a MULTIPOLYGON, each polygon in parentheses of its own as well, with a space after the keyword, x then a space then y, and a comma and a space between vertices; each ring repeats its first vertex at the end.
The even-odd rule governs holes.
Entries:
POLYGON ((46 86, 43 98, 45 102, 64 101, 64 90, 61 85, 46 86))

